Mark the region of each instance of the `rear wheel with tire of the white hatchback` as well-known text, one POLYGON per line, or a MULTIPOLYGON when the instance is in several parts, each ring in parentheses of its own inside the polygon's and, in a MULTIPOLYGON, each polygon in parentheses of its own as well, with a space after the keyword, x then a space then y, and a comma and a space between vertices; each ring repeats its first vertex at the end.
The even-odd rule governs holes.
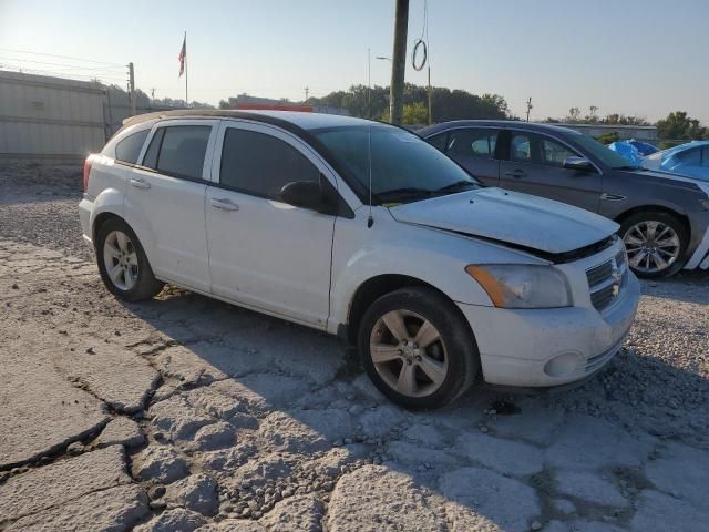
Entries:
POLYGON ((110 218, 99 227, 95 247, 101 279, 109 291, 120 299, 151 299, 165 286, 153 275, 137 236, 121 218, 110 218), (106 264, 107 260, 112 264, 106 264))

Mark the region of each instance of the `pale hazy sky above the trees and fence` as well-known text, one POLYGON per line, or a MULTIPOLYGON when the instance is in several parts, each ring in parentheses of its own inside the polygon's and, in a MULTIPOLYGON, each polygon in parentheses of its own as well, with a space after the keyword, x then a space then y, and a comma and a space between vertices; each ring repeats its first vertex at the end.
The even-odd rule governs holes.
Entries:
MULTIPOLYGON (((423 0, 410 9, 409 55, 423 0)), ((394 0, 0 0, 0 49, 132 61, 138 88, 184 98, 186 30, 191 100, 300 100, 306 85, 367 83, 368 48, 372 83, 388 84, 390 63, 373 58, 391 55, 393 12, 394 0)), ((533 119, 596 105, 709 124, 709 0, 429 0, 429 38, 434 85, 501 94, 518 115, 532 96, 533 119)), ((0 50, 0 64, 66 71, 39 61, 71 63, 0 50)), ((409 66, 407 81, 425 74, 409 66)))

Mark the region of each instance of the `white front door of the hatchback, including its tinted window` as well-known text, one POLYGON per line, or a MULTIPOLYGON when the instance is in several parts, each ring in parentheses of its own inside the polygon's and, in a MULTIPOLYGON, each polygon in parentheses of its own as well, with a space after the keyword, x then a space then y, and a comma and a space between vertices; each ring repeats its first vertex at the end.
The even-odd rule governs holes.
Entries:
POLYGON ((217 145, 206 198, 213 293, 325 328, 336 217, 279 197, 287 183, 335 176, 270 125, 225 121, 217 145))

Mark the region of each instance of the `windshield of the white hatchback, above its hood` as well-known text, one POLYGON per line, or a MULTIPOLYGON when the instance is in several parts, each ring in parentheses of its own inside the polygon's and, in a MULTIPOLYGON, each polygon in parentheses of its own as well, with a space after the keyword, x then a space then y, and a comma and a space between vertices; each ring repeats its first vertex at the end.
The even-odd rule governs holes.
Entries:
POLYGON ((399 127, 372 123, 311 133, 369 193, 370 130, 373 203, 409 203, 479 186, 435 147, 399 127))

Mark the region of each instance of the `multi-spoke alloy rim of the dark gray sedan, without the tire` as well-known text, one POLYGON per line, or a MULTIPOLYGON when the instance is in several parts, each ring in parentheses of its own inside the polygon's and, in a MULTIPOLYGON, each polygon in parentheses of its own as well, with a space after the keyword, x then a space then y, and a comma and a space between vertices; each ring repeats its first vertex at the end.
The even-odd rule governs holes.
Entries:
POLYGON ((628 250, 628 264, 644 274, 657 274, 669 268, 679 258, 681 249, 677 232, 662 222, 635 224, 623 241, 628 250))

